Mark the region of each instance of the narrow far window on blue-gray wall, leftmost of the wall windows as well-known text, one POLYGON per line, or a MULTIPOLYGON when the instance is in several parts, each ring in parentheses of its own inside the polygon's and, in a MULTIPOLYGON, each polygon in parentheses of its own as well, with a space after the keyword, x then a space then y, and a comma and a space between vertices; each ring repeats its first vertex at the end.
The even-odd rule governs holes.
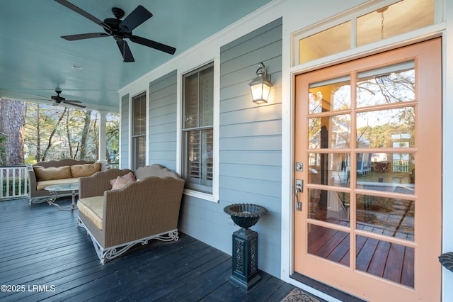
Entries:
POLYGON ((147 94, 132 98, 132 169, 146 165, 147 94))

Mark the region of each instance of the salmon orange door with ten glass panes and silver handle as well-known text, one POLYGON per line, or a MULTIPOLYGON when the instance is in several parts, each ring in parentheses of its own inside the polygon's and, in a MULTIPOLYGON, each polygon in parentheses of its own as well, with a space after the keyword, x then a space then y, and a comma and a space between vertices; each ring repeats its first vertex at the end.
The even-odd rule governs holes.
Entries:
POLYGON ((294 271, 440 301, 440 38, 296 77, 294 271))

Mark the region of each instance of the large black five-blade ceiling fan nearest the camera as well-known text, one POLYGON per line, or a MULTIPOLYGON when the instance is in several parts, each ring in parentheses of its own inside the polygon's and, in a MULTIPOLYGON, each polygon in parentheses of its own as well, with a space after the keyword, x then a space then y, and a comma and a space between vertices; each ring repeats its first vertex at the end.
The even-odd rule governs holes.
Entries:
POLYGON ((134 62, 132 52, 130 51, 129 45, 127 45, 127 42, 125 41, 126 38, 134 43, 151 47, 156 50, 161 50, 171 55, 176 52, 175 47, 171 47, 153 40, 148 40, 146 38, 139 37, 138 35, 132 35, 132 30, 134 30, 134 28, 137 28, 137 26, 144 23, 144 21, 147 21, 153 16, 152 13, 150 13, 141 5, 137 6, 137 8, 134 9, 134 11, 132 11, 132 13, 130 13, 124 20, 121 20, 121 18, 125 16, 125 12, 122 9, 113 7, 112 12, 115 18, 106 18, 104 21, 101 21, 95 16, 92 16, 90 13, 87 13, 83 9, 80 9, 79 7, 71 4, 66 0, 55 1, 59 4, 62 4, 63 6, 66 6, 72 11, 79 13, 81 16, 90 19, 105 30, 105 33, 82 33, 79 35, 64 35, 62 36, 62 38, 65 40, 74 41, 81 39, 108 37, 109 35, 111 35, 113 36, 113 38, 115 38, 116 43, 120 48, 123 62, 134 62))

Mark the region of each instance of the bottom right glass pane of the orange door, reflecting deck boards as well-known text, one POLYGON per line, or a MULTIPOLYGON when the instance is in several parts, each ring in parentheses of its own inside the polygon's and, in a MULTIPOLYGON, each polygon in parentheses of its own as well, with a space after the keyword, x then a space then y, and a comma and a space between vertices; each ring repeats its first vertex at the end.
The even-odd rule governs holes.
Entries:
POLYGON ((357 270, 413 287, 413 247, 365 236, 357 236, 356 246, 357 270))

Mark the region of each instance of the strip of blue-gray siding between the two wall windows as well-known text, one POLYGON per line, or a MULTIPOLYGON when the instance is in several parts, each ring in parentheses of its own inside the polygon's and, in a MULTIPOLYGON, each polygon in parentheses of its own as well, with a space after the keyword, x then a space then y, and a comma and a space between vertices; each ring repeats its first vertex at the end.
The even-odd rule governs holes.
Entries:
POLYGON ((176 170, 176 70, 149 83, 149 164, 176 170))

